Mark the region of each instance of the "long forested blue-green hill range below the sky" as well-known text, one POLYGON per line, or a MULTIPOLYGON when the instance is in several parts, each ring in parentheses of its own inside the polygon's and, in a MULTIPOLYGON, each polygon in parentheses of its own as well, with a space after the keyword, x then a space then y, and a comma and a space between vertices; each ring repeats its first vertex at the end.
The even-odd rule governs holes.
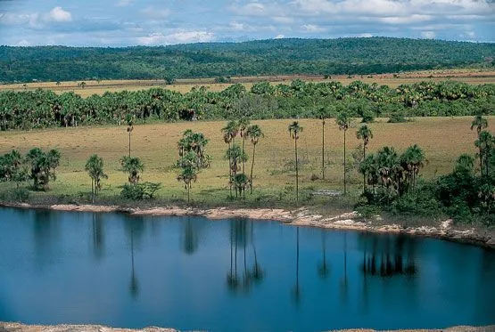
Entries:
POLYGON ((494 57, 495 44, 388 37, 125 48, 0 46, 0 82, 379 74, 493 66, 494 57))

